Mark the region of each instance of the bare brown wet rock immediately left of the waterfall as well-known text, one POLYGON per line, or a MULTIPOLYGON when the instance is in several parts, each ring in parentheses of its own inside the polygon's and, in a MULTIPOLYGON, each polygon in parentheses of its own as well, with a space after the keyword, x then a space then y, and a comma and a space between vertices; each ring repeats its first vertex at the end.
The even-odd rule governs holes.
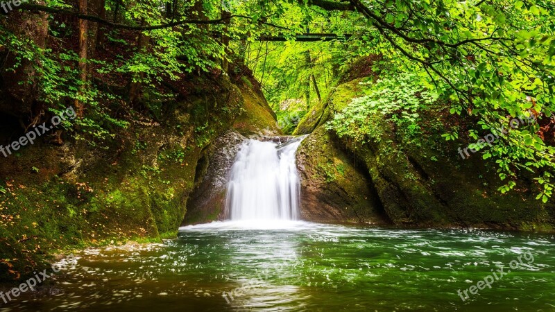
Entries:
POLYGON ((200 158, 195 189, 187 202, 183 225, 208 223, 225 217, 225 193, 235 155, 246 138, 228 130, 214 140, 200 158))

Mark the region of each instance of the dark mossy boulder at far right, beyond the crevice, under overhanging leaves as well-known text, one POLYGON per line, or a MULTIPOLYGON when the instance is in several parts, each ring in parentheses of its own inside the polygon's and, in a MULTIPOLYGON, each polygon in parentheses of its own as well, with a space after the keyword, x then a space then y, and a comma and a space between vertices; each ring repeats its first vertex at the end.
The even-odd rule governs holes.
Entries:
POLYGON ((472 155, 462 159, 459 146, 441 137, 445 124, 457 122, 442 109, 421 112, 422 135, 407 137, 395 123, 377 116, 370 121, 379 141, 341 146, 364 163, 388 217, 396 225, 484 227, 552 231, 555 205, 536 200, 533 181, 525 176, 515 191, 497 189, 497 164, 472 155))

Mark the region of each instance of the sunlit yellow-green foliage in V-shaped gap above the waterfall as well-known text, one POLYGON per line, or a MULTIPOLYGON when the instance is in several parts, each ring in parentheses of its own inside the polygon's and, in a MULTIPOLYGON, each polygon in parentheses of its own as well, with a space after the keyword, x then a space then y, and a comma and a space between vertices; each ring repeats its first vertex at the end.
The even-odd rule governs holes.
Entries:
MULTIPOLYGON (((334 33, 340 37, 352 33, 352 24, 343 21, 342 12, 284 5, 288 8, 275 24, 287 24, 289 32, 334 33)), ((357 47, 343 41, 333 42, 247 42, 235 48, 262 84, 264 95, 278 114, 284 133, 292 133, 297 119, 309 107, 323 101, 336 85, 339 71, 357 56, 357 47), (282 107, 282 103, 302 101, 302 105, 282 107)))

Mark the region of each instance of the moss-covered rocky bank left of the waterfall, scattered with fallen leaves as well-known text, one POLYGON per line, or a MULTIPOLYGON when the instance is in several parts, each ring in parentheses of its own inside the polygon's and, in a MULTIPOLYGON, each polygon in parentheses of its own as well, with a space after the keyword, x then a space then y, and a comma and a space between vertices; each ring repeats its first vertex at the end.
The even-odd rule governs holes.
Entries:
MULTIPOLYGON (((205 210, 195 208, 221 202, 233 148, 243 140, 230 129, 241 115, 264 114, 264 128, 273 134, 279 133, 277 122, 259 90, 236 85, 228 76, 190 76, 179 86, 189 93, 164 102, 163 110, 137 112, 126 120, 128 127, 114 130, 115 139, 102 141, 101 148, 67 135, 62 146, 52 145, 45 135, 11 157, 0 156, 2 214, 17 216, 9 227, 0 226, 0 254, 17 259, 10 263, 13 271, 22 277, 32 273, 49 262, 51 250, 112 240, 159 241, 175 237, 185 216, 218 218, 219 211, 203 215, 205 210), (254 112, 249 101, 256 101, 254 112), (219 146, 230 149, 213 154, 219 146), (212 171, 209 164, 222 166, 212 171), (214 189, 207 181, 214 182, 214 189), (44 252, 37 252, 37 246, 44 252)), ((156 101, 145 107, 157 107, 156 101)), ((1 109, 0 121, 13 119, 3 118, 1 109)), ((3 123, 0 144, 15 141, 22 131, 17 122, 3 123)), ((0 281, 16 278, 7 267, 0 261, 0 281)))

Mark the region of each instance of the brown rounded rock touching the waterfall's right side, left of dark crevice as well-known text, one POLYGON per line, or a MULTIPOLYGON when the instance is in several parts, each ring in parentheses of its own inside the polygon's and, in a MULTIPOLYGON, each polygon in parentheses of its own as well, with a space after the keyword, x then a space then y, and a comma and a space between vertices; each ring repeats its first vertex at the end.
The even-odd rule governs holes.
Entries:
POLYGON ((314 222, 390 223, 372 184, 324 128, 297 151, 301 218, 314 222))

